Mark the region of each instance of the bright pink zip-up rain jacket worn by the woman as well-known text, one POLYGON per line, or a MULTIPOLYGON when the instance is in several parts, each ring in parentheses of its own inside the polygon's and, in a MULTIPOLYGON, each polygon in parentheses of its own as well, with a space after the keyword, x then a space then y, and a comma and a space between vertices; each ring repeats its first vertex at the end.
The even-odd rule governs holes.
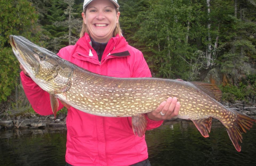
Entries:
MULTIPOLYGON (((85 34, 75 45, 60 49, 58 55, 91 72, 114 77, 151 77, 142 53, 125 41, 113 37, 108 41, 101 63, 85 34)), ((49 94, 21 72, 25 94, 33 109, 41 115, 52 114, 49 94)), ((60 103, 61 109, 63 105, 60 103)), ((147 130, 163 121, 148 119, 147 130)), ((127 166, 148 158, 145 136, 133 134, 131 117, 100 117, 73 107, 67 116, 66 162, 79 166, 127 166)))

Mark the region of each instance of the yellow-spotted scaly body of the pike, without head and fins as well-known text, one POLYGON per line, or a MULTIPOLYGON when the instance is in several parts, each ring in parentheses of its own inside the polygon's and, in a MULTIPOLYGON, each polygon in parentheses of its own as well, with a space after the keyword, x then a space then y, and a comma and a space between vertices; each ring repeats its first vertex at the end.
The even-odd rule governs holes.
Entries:
MULTIPOLYGON (((61 99, 68 100, 70 105, 83 101, 77 109, 91 114, 112 117, 143 114, 156 109, 161 102, 171 96, 177 97, 181 101, 180 118, 189 115, 190 119, 207 117, 219 119, 222 116, 220 112, 223 111, 218 111, 221 105, 210 104, 214 103, 212 97, 185 81, 155 78, 113 78, 91 72, 75 74, 75 71, 74 75, 80 75, 81 78, 73 78, 74 81, 72 81, 66 99, 64 96, 61 99), (81 82, 84 87, 82 89, 80 87, 81 82), (109 111, 109 109, 113 111, 109 111)), ((234 118, 230 117, 230 121, 234 118)))

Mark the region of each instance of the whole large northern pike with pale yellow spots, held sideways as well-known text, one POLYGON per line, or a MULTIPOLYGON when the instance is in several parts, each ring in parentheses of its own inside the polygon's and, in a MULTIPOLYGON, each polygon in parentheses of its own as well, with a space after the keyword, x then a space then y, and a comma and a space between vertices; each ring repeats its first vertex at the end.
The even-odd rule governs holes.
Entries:
POLYGON ((21 36, 10 35, 13 53, 29 76, 50 94, 54 116, 58 99, 67 108, 106 117, 132 117, 135 135, 146 131, 143 114, 157 108, 168 97, 180 101, 181 119, 192 120, 204 137, 209 137, 212 118, 227 129, 237 151, 242 133, 255 119, 229 109, 219 101, 222 92, 216 85, 160 78, 116 78, 89 72, 21 36))

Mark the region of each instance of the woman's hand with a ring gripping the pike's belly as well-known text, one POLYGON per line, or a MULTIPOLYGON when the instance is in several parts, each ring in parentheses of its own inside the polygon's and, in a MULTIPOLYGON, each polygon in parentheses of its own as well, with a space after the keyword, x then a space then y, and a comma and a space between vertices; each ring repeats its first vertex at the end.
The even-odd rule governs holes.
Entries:
POLYGON ((148 112, 147 116, 151 120, 166 120, 176 117, 179 114, 180 102, 177 102, 176 97, 168 97, 154 111, 148 112))

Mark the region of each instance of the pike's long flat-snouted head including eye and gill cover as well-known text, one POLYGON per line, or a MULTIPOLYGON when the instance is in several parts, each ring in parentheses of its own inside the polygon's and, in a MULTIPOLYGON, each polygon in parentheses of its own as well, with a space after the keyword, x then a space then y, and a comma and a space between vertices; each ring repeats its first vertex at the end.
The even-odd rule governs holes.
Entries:
POLYGON ((48 92, 65 86, 72 73, 65 65, 66 60, 22 36, 10 35, 9 38, 14 55, 37 85, 48 92))

